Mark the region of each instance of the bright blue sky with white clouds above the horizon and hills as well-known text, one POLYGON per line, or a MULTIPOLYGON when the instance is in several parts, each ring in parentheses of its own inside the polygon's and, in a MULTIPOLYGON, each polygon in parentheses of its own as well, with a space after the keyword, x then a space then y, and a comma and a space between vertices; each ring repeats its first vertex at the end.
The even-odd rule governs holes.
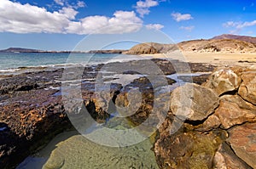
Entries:
POLYGON ((125 34, 143 25, 174 42, 256 37, 256 0, 0 0, 0 24, 0 48, 72 50, 91 33, 125 34))

